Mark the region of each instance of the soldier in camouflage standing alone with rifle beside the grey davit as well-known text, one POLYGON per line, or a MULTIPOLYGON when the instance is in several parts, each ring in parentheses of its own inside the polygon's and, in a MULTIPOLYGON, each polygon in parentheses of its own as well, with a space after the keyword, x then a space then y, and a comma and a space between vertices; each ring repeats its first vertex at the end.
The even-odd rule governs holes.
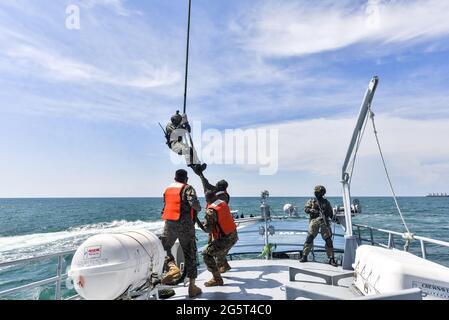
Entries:
POLYGON ((304 243, 304 250, 300 262, 307 262, 307 256, 313 248, 313 240, 319 232, 326 243, 326 253, 329 258, 329 264, 337 266, 334 258, 334 245, 332 242, 332 230, 330 228, 330 219, 333 216, 332 205, 329 200, 324 198, 326 188, 316 186, 314 189, 315 198, 306 202, 304 211, 309 215, 309 230, 304 243))

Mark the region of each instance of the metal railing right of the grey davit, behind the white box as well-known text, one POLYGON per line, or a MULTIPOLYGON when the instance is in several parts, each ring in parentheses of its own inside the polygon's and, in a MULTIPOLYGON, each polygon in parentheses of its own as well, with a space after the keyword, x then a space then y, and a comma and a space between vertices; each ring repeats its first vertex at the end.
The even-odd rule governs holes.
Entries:
MULTIPOLYGON (((374 227, 370 227, 367 225, 361 225, 361 224, 353 224, 353 226, 355 228, 357 228, 357 237, 360 241, 360 243, 363 242, 368 242, 373 246, 380 246, 380 247, 384 247, 384 248, 396 248, 395 245, 395 237, 400 237, 403 240, 407 240, 405 238, 405 234, 401 233, 401 232, 397 232, 397 231, 391 231, 391 230, 386 230, 386 229, 380 229, 380 228, 374 228, 374 227), (369 230, 369 239, 362 237, 362 229, 365 230, 369 230), (374 231, 376 232, 380 232, 382 234, 385 234, 388 236, 388 243, 382 243, 382 242, 376 242, 374 240, 374 231)), ((445 247, 445 248, 449 248, 449 242, 446 241, 441 241, 441 240, 435 240, 432 238, 427 238, 427 237, 421 237, 421 236, 416 236, 413 235, 413 240, 417 240, 420 243, 420 249, 421 249, 421 257, 423 259, 427 259, 427 247, 426 247, 426 243, 431 243, 440 247, 445 247)))

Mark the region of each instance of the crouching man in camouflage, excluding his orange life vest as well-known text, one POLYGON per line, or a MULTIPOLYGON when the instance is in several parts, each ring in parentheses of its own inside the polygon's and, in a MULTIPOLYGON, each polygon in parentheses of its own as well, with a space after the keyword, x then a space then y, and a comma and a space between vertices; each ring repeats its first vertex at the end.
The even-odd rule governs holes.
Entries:
MULTIPOLYGON (((206 287, 223 285, 223 278, 221 277, 221 274, 231 269, 231 266, 226 260, 226 256, 232 246, 234 246, 234 244, 238 241, 236 229, 227 235, 223 234, 223 230, 218 223, 218 212, 214 208, 210 207, 210 205, 214 202, 216 203, 217 200, 218 202, 223 202, 223 206, 229 210, 226 202, 219 200, 215 193, 212 191, 206 192, 206 202, 208 204, 208 208, 206 210, 204 229, 206 232, 209 232, 211 241, 203 251, 203 258, 204 263, 207 266, 207 270, 209 270, 213 275, 211 280, 204 283, 206 287)), ((232 223, 234 223, 230 212, 229 215, 232 219, 232 223)))

